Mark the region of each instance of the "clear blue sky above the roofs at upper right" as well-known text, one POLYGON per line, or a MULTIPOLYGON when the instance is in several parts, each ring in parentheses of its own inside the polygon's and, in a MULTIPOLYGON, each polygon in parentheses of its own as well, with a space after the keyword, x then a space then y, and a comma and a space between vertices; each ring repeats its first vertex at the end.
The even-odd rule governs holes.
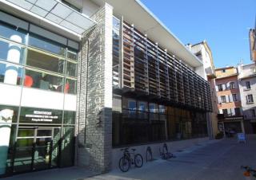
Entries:
POLYGON ((204 39, 215 68, 250 64, 256 0, 141 0, 183 44, 204 39))

